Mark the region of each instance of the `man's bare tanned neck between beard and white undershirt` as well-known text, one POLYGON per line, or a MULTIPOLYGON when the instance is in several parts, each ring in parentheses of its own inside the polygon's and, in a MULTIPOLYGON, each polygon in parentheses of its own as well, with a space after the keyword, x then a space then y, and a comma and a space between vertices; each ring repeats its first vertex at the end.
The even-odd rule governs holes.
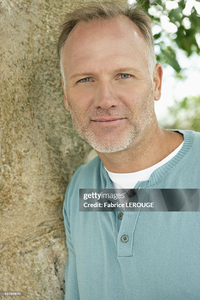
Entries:
MULTIPOLYGON (((151 125, 147 125, 151 126, 151 125)), ((137 137, 123 151, 113 153, 97 152, 106 169, 113 173, 133 173, 147 169, 162 161, 182 142, 183 135, 155 125, 137 137)))

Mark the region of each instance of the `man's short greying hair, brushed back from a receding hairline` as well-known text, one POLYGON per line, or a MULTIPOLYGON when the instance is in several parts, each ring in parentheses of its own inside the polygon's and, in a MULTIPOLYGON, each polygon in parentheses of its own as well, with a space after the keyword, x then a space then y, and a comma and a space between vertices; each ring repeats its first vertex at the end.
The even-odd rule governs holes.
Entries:
POLYGON ((63 49, 69 33, 74 26, 80 22, 89 22, 96 20, 112 20, 120 15, 128 17, 138 27, 146 42, 144 51, 145 59, 148 64, 148 71, 151 82, 153 83, 153 72, 156 66, 156 56, 154 52, 154 38, 152 34, 151 18, 141 9, 141 4, 134 3, 132 5, 126 2, 108 2, 108 1, 89 1, 86 5, 82 5, 65 16, 60 26, 60 36, 57 46, 57 54, 60 64, 60 71, 66 89, 66 77, 63 67, 63 49))

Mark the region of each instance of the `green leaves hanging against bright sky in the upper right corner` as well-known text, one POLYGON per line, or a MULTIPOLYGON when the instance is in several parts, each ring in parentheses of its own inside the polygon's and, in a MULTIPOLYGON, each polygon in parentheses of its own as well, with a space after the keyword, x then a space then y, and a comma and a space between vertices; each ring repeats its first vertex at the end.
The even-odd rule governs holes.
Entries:
POLYGON ((158 45, 160 48, 157 60, 162 64, 170 64, 179 73, 181 68, 174 48, 178 47, 184 50, 187 57, 192 52, 200 53, 197 43, 197 36, 200 34, 200 15, 198 15, 194 5, 190 7, 191 13, 188 15, 188 9, 186 10, 186 4, 189 4, 188 0, 144 0, 142 2, 145 10, 152 17, 154 26, 158 25, 159 27, 162 24, 163 16, 165 20, 168 20, 169 29, 173 26, 172 32, 170 32, 171 30, 162 29, 160 26, 160 32, 154 35, 154 39, 155 45, 158 45), (168 38, 170 45, 166 45, 162 35, 168 38))

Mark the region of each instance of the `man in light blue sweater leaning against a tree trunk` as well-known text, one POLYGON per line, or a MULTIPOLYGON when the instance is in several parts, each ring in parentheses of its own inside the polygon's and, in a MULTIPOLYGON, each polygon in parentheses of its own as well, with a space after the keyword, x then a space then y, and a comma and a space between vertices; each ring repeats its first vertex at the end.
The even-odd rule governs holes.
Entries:
POLYGON ((79 189, 199 188, 200 134, 156 119, 150 18, 138 5, 91 2, 61 29, 65 108, 98 154, 65 193, 65 299, 199 299, 199 212, 79 211, 79 189))

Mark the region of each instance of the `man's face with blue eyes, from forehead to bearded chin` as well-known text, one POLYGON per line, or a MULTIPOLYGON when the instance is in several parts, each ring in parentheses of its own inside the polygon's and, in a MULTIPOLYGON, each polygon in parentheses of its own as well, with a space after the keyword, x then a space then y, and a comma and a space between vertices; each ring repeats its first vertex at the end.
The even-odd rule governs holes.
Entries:
POLYGON ((141 32, 124 16, 79 22, 65 43, 65 107, 98 152, 130 148, 154 119, 144 49, 141 32))

